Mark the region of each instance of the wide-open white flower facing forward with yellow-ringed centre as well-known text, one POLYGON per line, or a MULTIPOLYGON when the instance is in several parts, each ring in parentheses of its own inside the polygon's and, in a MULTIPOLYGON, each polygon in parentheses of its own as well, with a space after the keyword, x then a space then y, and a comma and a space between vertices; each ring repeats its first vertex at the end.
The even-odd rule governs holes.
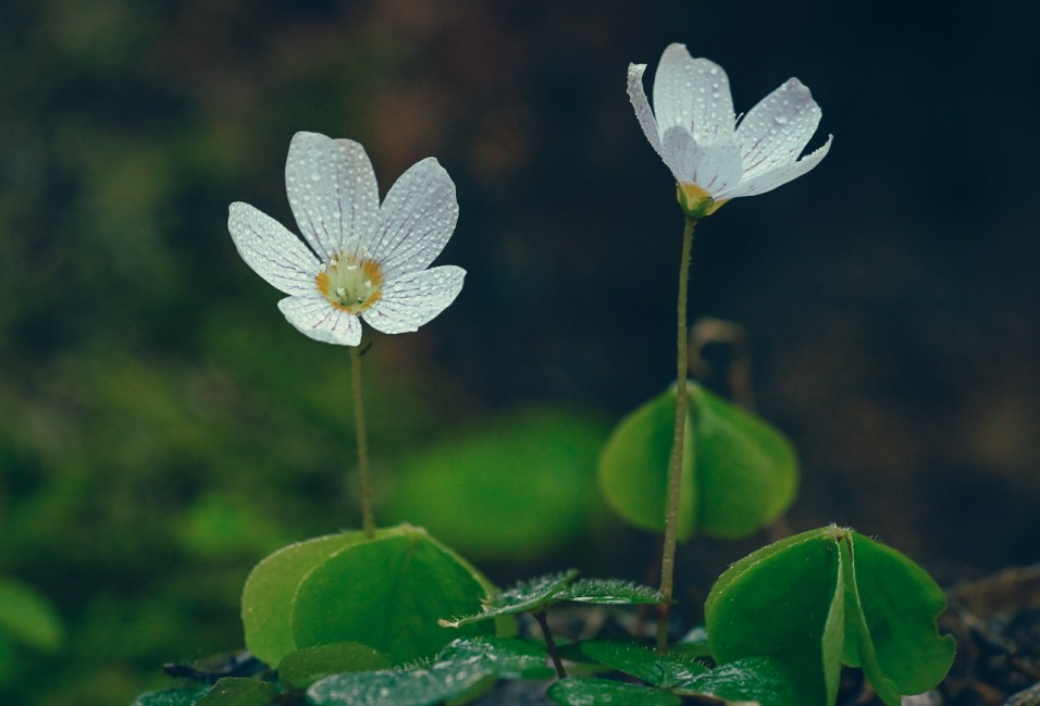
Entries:
POLYGON ((462 289, 462 268, 426 269, 459 216, 455 184, 434 158, 406 171, 381 206, 361 145, 297 133, 285 189, 304 240, 242 202, 231 205, 227 230, 243 260, 289 295, 278 309, 311 338, 357 346, 361 318, 383 333, 416 331, 462 289))

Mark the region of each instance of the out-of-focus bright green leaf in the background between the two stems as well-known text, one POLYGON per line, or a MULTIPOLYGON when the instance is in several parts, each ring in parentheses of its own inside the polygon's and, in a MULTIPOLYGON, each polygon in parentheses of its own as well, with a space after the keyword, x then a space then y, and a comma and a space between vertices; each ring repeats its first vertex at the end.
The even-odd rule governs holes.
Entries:
POLYGON ((603 515, 589 487, 607 431, 553 409, 496 419, 407 455, 382 512, 428 528, 469 557, 544 555, 603 515))

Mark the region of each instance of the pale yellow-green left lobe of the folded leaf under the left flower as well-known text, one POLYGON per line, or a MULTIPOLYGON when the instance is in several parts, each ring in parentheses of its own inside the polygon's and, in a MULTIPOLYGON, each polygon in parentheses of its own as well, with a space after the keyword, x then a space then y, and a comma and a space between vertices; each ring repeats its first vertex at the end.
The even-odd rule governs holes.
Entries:
POLYGON ((242 592, 246 647, 269 665, 296 652, 289 612, 293 596, 319 563, 364 540, 363 532, 317 537, 278 549, 253 568, 242 592))

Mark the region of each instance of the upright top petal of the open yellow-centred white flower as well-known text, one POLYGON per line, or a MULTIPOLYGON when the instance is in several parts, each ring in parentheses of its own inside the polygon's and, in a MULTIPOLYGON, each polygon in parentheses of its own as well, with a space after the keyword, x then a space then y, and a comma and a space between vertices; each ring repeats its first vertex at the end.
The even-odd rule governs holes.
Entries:
POLYGON ((307 243, 329 261, 368 241, 379 219, 379 186, 364 148, 350 139, 297 133, 285 162, 289 206, 307 243))

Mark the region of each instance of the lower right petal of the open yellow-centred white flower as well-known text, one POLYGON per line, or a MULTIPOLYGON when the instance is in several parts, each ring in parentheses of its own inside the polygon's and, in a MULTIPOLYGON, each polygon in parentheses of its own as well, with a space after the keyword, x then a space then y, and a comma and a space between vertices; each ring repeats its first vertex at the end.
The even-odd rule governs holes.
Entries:
POLYGON ((361 315, 383 333, 416 331, 455 301, 465 276, 454 264, 408 275, 383 287, 380 300, 361 315))

